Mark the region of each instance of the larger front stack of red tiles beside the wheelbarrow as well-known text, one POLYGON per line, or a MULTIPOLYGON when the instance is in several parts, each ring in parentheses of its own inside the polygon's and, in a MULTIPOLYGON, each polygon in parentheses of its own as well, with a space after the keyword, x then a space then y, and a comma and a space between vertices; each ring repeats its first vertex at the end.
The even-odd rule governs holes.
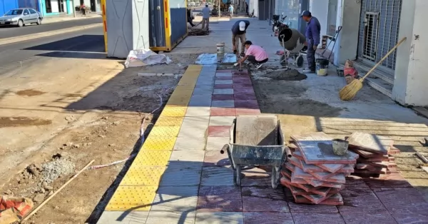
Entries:
POLYGON ((296 203, 343 205, 340 190, 354 172, 358 155, 333 153, 332 138, 325 133, 291 137, 292 158, 282 169, 281 184, 291 190, 296 203))

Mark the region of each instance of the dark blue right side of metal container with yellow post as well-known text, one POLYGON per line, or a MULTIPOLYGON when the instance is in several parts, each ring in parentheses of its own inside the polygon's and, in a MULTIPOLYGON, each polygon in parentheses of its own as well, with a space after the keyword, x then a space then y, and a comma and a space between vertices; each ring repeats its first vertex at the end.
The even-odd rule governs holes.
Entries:
POLYGON ((172 51, 188 35, 186 1, 148 1, 150 48, 152 51, 172 51))

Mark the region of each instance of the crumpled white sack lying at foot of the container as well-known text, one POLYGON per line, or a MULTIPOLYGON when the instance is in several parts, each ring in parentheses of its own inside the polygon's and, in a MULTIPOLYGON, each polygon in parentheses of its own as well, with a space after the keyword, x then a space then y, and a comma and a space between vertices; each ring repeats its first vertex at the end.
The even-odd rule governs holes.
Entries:
POLYGON ((150 49, 140 49, 129 51, 125 61, 125 67, 143 67, 161 63, 171 63, 172 61, 165 54, 156 54, 150 49))

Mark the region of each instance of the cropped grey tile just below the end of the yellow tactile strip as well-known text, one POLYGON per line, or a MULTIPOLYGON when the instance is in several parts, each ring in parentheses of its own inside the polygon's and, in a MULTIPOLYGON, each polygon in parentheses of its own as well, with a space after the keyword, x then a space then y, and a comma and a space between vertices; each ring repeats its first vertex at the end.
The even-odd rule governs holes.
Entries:
POLYGON ((131 221, 133 223, 146 223, 147 216, 148 212, 146 211, 104 211, 97 224, 129 224, 131 221))

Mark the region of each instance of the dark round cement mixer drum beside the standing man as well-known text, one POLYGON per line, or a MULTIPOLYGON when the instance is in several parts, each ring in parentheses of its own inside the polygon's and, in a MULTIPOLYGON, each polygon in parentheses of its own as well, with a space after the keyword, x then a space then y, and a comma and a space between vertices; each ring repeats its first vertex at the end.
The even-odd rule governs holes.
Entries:
POLYGON ((278 41, 290 53, 298 53, 305 47, 306 38, 297 29, 282 28, 278 31, 278 41))

